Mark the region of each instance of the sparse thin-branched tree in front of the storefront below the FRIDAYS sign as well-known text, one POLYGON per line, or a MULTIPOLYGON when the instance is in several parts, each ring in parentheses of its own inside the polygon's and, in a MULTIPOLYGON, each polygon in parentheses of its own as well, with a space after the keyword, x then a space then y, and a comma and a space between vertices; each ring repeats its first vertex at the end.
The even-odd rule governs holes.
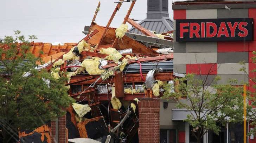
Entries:
POLYGON ((170 86, 165 85, 163 98, 174 98, 177 107, 187 109, 188 122, 193 130, 192 134, 201 142, 203 135, 211 130, 219 134, 220 126, 227 122, 240 122, 243 117, 242 87, 230 84, 214 84, 219 80, 208 79, 209 75, 196 78, 193 74, 187 74, 184 78, 176 79, 175 92, 170 93, 170 86), (211 86, 209 86, 211 84, 211 86), (228 120, 227 120, 228 119, 228 120))

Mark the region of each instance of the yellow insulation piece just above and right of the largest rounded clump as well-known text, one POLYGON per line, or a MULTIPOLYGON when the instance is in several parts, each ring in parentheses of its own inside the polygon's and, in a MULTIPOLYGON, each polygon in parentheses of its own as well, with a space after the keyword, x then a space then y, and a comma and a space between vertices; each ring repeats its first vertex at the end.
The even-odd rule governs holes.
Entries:
POLYGON ((121 53, 118 52, 115 48, 108 48, 108 49, 102 48, 102 49, 100 50, 100 53, 108 54, 108 56, 105 57, 105 59, 107 59, 107 60, 113 60, 114 62, 117 62, 120 58, 123 57, 123 56, 121 55, 121 53))

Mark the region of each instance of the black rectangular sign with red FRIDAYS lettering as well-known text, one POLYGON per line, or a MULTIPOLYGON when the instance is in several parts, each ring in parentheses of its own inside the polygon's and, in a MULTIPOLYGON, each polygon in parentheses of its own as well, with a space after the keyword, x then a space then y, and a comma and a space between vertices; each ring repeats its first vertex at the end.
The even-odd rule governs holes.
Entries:
POLYGON ((176 41, 251 41, 253 19, 176 20, 176 41))

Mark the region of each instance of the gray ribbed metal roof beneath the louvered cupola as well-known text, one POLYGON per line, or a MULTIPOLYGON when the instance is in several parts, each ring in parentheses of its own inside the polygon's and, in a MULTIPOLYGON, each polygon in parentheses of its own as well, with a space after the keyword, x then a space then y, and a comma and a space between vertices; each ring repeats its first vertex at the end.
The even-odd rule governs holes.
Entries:
MULTIPOLYGON (((148 30, 155 31, 156 33, 173 30, 173 21, 169 19, 169 17, 162 17, 162 19, 145 19, 139 24, 148 30)), ((134 27, 132 27, 129 31, 135 34, 142 34, 134 27)))

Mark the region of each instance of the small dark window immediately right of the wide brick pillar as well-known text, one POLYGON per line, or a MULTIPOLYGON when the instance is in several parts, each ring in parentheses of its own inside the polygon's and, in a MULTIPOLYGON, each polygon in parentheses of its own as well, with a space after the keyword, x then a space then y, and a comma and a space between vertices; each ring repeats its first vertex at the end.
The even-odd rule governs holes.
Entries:
POLYGON ((167 130, 160 129, 160 143, 175 143, 176 142, 175 129, 167 130))

